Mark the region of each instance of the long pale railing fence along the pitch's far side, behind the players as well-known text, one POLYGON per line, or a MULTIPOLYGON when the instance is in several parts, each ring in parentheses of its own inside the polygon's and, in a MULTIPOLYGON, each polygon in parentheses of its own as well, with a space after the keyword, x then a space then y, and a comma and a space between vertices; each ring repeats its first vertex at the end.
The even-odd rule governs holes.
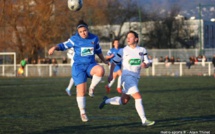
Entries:
MULTIPOLYGON (((101 64, 105 68, 105 75, 109 74, 109 68, 105 64, 101 64)), ((16 66, 19 68, 19 65, 16 66)), ((186 62, 175 62, 174 64, 153 63, 147 69, 141 70, 142 76, 211 76, 214 69, 211 62, 205 64, 195 64, 190 69, 187 68, 186 62)), ((0 65, 1 77, 15 77, 17 70, 13 65, 0 65)), ((27 64, 25 67, 25 77, 69 77, 71 76, 70 64, 58 64, 55 69, 52 64, 27 64), (56 72, 55 72, 56 71, 56 72)))

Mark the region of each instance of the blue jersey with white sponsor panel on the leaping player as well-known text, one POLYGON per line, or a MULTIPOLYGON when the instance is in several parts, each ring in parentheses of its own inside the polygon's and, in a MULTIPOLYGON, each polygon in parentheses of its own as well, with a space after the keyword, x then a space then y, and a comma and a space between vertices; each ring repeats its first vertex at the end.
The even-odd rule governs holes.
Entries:
POLYGON ((68 41, 58 44, 58 48, 61 51, 74 48, 74 64, 95 63, 95 54, 98 55, 102 53, 99 39, 92 33, 88 33, 86 39, 81 38, 81 36, 76 33, 71 36, 68 41))

